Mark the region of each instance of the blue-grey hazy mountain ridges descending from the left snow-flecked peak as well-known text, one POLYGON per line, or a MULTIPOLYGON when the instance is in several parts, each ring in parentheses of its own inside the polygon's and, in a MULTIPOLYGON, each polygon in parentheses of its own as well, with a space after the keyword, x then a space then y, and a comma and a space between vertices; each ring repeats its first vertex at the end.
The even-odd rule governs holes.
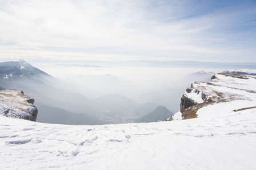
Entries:
POLYGON ((85 97, 74 92, 76 84, 69 86, 23 60, 0 63, 0 86, 22 90, 33 97, 40 122, 75 125, 136 122, 159 106, 139 104, 120 94, 85 97))

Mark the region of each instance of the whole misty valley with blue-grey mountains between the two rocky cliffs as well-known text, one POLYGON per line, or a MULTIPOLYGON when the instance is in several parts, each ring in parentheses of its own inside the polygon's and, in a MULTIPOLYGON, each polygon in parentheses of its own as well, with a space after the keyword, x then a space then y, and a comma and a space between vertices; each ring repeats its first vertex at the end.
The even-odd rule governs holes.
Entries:
POLYGON ((38 122, 96 125, 163 121, 179 111, 192 81, 210 81, 199 68, 1 63, 1 87, 34 98, 38 122))

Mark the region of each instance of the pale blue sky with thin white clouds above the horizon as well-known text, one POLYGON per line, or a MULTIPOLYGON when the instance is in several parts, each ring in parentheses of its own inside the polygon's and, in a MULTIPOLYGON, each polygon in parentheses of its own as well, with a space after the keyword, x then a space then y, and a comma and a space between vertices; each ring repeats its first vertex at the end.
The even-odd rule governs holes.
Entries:
POLYGON ((0 60, 256 69, 256 1, 0 1, 0 60))

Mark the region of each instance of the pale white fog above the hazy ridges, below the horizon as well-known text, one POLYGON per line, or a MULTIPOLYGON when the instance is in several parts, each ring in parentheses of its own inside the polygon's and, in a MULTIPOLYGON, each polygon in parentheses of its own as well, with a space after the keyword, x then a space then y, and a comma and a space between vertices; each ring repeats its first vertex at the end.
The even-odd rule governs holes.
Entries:
MULTIPOLYGON (((206 68, 85 68, 80 74, 57 75, 66 85, 89 98, 120 94, 133 101, 153 102, 166 106, 172 112, 179 111, 180 97, 192 81, 210 81, 214 72, 206 68), (208 70, 207 72, 202 70, 208 70), (86 74, 91 73, 91 74, 86 74)), ((82 70, 82 69, 81 69, 82 70)), ((212 69, 216 70, 216 69, 212 69)))

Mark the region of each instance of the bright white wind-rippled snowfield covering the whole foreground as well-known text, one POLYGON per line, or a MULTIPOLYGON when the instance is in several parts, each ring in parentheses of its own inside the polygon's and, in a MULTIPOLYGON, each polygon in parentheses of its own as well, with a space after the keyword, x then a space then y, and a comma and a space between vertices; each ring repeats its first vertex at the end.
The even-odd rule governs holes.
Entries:
MULTIPOLYGON (((237 86, 255 90, 255 78, 248 80, 237 86)), ((255 96, 205 106, 198 118, 148 124, 74 126, 1 116, 0 169, 255 169, 256 108, 234 112, 256 106, 255 96)))

